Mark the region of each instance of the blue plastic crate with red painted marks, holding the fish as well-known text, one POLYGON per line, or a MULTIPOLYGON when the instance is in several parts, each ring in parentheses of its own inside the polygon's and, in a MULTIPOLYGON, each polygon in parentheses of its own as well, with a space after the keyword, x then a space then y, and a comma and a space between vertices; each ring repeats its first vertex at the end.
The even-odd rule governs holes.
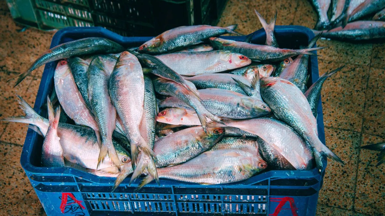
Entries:
MULTIPOLYGON (((314 37, 301 26, 277 26, 278 43, 287 48, 306 45, 314 37)), ((135 47, 151 37, 122 37, 101 27, 64 28, 52 38, 51 47, 85 38, 105 37, 125 47, 135 47)), ((253 33, 253 43, 263 44, 264 30, 253 33)), ((244 40, 246 37, 223 37, 244 40)), ((53 89, 57 62, 45 65, 35 101, 35 111, 46 116, 47 95, 53 89)), ((318 79, 316 56, 310 56, 308 85, 318 79)), ((318 132, 325 143, 321 101, 318 104, 318 132)), ((202 186, 161 179, 133 193, 129 179, 111 193, 114 178, 97 177, 73 168, 40 167, 43 138, 28 129, 20 158, 45 212, 48 215, 260 215, 313 216, 325 170, 268 171, 245 181, 202 186)), ((326 163, 326 161, 324 161, 326 163)))

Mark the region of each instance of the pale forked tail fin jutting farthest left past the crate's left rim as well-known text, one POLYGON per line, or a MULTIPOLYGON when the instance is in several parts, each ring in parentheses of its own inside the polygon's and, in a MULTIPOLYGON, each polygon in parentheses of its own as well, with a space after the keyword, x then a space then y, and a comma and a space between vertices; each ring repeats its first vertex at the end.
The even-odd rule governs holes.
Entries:
POLYGON ((9 116, 6 118, 1 118, 1 121, 12 121, 26 124, 36 124, 36 120, 40 120, 42 117, 33 110, 33 108, 20 96, 16 95, 19 100, 20 108, 25 113, 25 116, 9 116))

